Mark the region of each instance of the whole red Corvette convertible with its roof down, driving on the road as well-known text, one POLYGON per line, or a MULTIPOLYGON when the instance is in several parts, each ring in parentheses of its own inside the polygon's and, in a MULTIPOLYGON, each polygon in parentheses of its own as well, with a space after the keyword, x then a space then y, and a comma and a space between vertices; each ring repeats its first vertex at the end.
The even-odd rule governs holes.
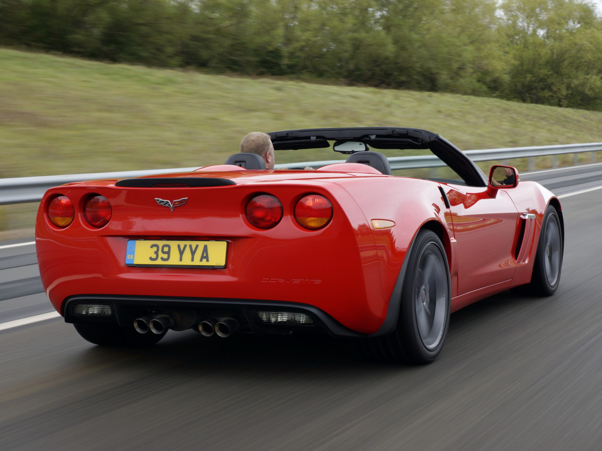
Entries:
POLYGON ((560 203, 515 168, 488 178, 426 130, 268 134, 276 155, 349 156, 267 170, 242 153, 190 173, 49 189, 36 248, 65 321, 98 345, 152 345, 170 329, 328 333, 358 337, 380 360, 428 363, 453 311, 513 287, 556 291, 560 203), (396 175, 383 156, 393 150, 396 175))

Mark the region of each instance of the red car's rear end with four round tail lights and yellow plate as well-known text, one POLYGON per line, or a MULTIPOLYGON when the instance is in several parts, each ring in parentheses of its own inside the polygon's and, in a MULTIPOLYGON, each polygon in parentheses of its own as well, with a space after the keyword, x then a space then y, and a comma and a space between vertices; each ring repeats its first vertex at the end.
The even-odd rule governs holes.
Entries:
POLYGON ((374 333, 393 287, 338 183, 349 177, 219 171, 52 188, 36 225, 46 293, 67 322, 138 333, 374 333))

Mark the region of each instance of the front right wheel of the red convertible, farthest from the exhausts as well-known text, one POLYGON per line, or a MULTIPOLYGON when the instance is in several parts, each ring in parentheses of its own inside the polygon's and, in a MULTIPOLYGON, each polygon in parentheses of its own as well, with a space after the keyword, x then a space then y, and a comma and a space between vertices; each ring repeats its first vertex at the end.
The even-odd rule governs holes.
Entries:
POLYGON ((548 205, 541 222, 541 232, 527 288, 535 296, 551 296, 560 283, 564 242, 562 226, 556 209, 548 205))

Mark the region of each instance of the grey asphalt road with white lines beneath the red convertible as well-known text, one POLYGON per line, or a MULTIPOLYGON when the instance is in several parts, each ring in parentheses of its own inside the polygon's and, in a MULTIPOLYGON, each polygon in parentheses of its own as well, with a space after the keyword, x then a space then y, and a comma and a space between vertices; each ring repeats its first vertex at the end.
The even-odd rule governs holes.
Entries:
MULTIPOLYGON (((2 330, 51 311, 42 293, 8 297, 0 450, 600 450, 602 189, 587 191, 598 170, 523 175, 563 196, 560 288, 454 313, 429 366, 375 364, 327 337, 188 331, 100 348, 60 318, 2 330)), ((36 290, 31 253, 0 248, 1 293, 36 290)))

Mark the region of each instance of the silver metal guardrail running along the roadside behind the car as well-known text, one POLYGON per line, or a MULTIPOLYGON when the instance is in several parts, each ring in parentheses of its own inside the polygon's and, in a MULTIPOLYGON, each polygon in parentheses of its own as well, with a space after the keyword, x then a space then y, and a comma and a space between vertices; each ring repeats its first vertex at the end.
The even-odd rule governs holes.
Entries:
MULTIPOLYGON (((507 161, 514 158, 529 158, 529 170, 535 170, 535 158, 540 156, 553 156, 553 167, 557 165, 557 156, 564 154, 573 154, 573 164, 579 164, 579 154, 583 152, 592 153, 592 162, 595 162, 595 152, 602 150, 602 143, 588 144, 566 144, 560 146, 541 146, 541 147, 509 147, 506 149, 483 149, 466 150, 464 153, 473 161, 507 161)), ((276 169, 294 168, 294 167, 312 167, 319 168, 327 164, 342 163, 344 160, 329 161, 309 161, 289 164, 278 164, 276 169)), ((444 164, 434 155, 426 156, 399 156, 389 158, 391 170, 406 168, 433 168, 441 167, 444 164)), ((122 171, 110 173, 92 173, 92 174, 72 174, 64 176, 42 176, 42 177, 15 177, 11 179, 0 179, 0 205, 19 204, 38 202, 46 189, 52 186, 63 185, 64 183, 81 182, 82 180, 99 179, 126 179, 129 177, 148 176, 161 173, 190 172, 198 169, 193 168, 175 168, 175 169, 155 169, 147 171, 122 171)))

